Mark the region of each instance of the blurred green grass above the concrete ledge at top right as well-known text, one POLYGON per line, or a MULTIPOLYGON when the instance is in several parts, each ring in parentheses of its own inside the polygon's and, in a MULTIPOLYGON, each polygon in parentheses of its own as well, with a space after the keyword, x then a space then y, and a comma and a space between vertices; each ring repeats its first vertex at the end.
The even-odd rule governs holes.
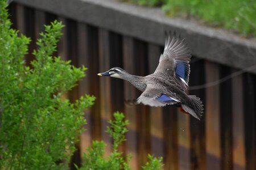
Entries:
MULTIPOLYGON (((120 0, 119 0, 120 1, 120 0)), ((254 0, 121 0, 143 6, 162 6, 167 16, 195 18, 243 36, 256 36, 254 0)))

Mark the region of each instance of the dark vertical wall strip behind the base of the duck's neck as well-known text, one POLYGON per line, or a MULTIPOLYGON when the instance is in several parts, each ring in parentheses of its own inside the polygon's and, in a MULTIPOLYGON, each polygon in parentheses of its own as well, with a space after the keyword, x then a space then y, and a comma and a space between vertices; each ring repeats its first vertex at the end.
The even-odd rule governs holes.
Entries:
MULTIPOLYGON (((134 63, 135 74, 147 75, 147 46, 146 43, 140 40, 134 41, 134 63)), ((137 91, 137 96, 141 92, 137 91)), ((150 142, 150 114, 149 107, 145 105, 136 106, 136 131, 138 133, 138 161, 139 166, 147 162, 147 154, 151 152, 150 142)))

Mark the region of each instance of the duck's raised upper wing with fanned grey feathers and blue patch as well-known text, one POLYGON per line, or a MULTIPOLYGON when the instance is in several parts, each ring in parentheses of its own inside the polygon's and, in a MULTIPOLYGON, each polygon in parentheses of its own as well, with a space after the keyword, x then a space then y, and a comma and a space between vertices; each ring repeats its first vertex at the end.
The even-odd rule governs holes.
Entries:
POLYGON ((182 87, 188 87, 191 58, 190 50, 185 43, 185 39, 176 36, 175 33, 168 33, 164 52, 159 59, 158 67, 155 73, 172 74, 182 87))

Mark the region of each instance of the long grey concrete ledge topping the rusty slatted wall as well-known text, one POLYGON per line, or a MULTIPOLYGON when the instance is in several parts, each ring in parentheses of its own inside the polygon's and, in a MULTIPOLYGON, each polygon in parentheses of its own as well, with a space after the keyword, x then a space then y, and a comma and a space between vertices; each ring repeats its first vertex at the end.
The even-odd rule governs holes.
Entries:
POLYGON ((176 30, 187 39, 194 56, 256 73, 255 67, 251 69, 256 65, 255 39, 243 39, 193 21, 167 18, 159 8, 134 6, 114 0, 15 1, 159 45, 164 45, 165 31, 176 30))

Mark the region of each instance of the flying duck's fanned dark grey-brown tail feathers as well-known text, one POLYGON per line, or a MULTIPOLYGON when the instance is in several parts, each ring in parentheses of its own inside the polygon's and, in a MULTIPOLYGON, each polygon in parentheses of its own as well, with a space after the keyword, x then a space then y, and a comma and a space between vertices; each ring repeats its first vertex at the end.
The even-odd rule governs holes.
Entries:
POLYGON ((203 104, 199 97, 189 95, 191 103, 189 105, 181 104, 181 107, 184 111, 191 114, 193 117, 200 120, 200 117, 203 116, 203 104))

